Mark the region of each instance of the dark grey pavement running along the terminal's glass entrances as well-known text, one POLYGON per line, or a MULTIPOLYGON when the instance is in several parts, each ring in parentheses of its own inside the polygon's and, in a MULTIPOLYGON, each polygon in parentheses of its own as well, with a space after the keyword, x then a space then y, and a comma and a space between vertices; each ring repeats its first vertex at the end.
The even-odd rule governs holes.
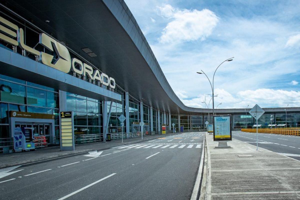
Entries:
POLYGON ((51 158, 69 156, 80 154, 88 151, 100 151, 109 149, 111 147, 116 147, 124 144, 131 144, 137 142, 143 142, 147 140, 152 140, 156 138, 161 138, 170 135, 176 135, 178 133, 169 133, 166 135, 150 135, 150 136, 143 136, 136 137, 136 138, 129 138, 129 139, 122 139, 120 140, 113 140, 103 142, 94 142, 88 144, 79 144, 75 145, 75 151, 60 151, 60 146, 52 146, 52 147, 44 147, 40 149, 36 149, 35 151, 27 151, 27 152, 16 152, 10 154, 0 154, 0 169, 10 166, 22 165, 32 162, 37 162, 41 160, 47 160, 51 158))

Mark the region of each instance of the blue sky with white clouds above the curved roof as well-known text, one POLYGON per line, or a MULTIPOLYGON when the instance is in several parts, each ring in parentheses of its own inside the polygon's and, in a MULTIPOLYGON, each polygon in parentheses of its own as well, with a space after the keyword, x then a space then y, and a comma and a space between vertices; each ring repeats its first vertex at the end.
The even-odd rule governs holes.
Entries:
POLYGON ((300 106, 299 0, 125 2, 184 105, 300 106))

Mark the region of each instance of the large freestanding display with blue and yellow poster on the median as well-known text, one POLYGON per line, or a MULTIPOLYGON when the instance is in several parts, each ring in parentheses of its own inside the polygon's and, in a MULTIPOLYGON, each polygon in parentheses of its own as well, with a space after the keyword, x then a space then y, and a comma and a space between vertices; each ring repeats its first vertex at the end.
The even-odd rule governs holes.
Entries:
POLYGON ((231 140, 231 115, 214 115, 214 141, 231 140))

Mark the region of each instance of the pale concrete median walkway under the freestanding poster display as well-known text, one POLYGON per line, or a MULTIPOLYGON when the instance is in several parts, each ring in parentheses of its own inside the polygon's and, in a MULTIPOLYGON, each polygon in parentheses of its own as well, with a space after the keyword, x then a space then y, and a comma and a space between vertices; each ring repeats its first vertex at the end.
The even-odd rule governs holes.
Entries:
POLYGON ((256 151, 256 146, 236 139, 227 142, 232 148, 214 148, 217 144, 206 134, 205 199, 300 199, 298 160, 263 148, 256 151))

